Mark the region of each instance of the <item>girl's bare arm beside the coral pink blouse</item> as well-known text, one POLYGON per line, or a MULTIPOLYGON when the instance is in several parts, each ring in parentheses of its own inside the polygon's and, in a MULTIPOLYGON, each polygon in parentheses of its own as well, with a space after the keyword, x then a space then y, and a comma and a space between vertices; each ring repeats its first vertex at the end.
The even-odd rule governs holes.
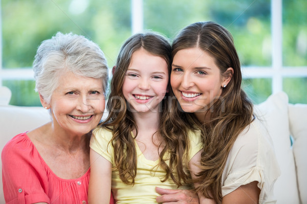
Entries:
POLYGON ((109 204, 111 196, 112 164, 92 148, 89 203, 109 204))

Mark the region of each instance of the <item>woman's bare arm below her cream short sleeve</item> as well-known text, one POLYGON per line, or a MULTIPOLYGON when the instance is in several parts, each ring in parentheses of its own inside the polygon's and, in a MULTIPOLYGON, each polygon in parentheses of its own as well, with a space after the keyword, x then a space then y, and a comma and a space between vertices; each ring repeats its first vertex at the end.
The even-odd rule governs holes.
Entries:
POLYGON ((260 189, 257 186, 258 182, 252 182, 243 186, 240 186, 231 193, 223 197, 223 204, 255 204, 258 203, 260 189))

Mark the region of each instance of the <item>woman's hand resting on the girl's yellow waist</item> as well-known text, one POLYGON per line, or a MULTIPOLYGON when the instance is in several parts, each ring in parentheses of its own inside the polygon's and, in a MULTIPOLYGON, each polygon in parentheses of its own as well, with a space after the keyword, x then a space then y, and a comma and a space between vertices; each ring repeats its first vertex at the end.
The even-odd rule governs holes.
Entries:
POLYGON ((193 190, 164 189, 156 187, 156 192, 160 194, 156 198, 158 203, 164 204, 199 204, 199 197, 193 190))

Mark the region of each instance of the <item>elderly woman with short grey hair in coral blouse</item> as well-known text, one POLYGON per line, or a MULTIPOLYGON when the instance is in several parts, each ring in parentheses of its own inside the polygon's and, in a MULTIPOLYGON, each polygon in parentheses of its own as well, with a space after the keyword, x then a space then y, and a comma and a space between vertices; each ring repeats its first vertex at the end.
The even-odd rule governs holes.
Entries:
POLYGON ((91 131, 105 108, 105 57, 83 36, 57 33, 38 47, 33 68, 51 122, 16 135, 4 147, 5 200, 87 203, 91 131))

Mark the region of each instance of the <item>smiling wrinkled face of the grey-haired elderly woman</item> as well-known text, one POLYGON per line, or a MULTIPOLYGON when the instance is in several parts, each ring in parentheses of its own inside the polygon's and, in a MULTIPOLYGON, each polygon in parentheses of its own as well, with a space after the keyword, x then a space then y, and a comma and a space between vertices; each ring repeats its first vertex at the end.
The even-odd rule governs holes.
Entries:
POLYGON ((101 80, 79 77, 72 72, 60 76, 50 101, 55 130, 72 135, 90 132, 99 123, 104 108, 101 80))

